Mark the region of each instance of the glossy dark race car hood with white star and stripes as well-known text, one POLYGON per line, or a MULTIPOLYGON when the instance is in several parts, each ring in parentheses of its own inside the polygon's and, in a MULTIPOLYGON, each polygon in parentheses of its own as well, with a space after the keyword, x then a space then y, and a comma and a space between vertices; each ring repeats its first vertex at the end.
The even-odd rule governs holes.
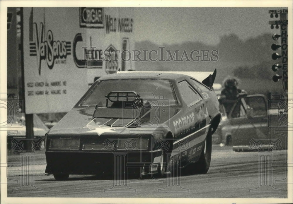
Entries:
MULTIPOLYGON (((135 111, 131 117, 130 114, 127 113, 127 117, 125 118, 123 117, 125 114, 121 109, 109 108, 108 114, 97 115, 96 113, 94 114, 94 107, 73 108, 50 129, 49 134, 127 134, 130 130, 139 131, 145 130, 146 128, 151 130, 168 123, 168 120, 177 114, 179 110, 178 107, 158 107, 158 109, 152 109, 149 112, 151 119, 153 119, 152 122, 143 124, 141 118, 136 116, 135 111), (98 117, 93 117, 93 115, 98 117), (139 125, 134 125, 134 120, 138 121, 139 125)), ((103 112, 104 110, 102 113, 103 112)))

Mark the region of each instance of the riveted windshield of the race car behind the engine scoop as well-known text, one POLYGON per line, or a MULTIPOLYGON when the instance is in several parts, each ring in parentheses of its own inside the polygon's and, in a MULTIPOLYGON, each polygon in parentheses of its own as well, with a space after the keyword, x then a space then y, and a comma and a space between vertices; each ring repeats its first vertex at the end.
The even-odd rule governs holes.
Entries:
MULTIPOLYGON (((101 80, 79 106, 106 106, 105 96, 108 93, 122 91, 136 92, 142 100, 168 100, 169 105, 178 105, 171 80, 138 78, 101 80)), ((108 101, 109 105, 111 105, 110 101, 108 101)))

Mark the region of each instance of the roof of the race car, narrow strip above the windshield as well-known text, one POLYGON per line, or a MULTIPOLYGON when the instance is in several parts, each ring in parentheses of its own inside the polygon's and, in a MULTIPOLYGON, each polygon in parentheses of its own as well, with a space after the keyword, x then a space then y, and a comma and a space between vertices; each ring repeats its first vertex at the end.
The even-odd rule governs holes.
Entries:
MULTIPOLYGON (((108 74, 101 76, 98 80, 106 80, 106 79, 135 79, 135 78, 156 78, 156 79, 171 79, 177 80, 181 78, 185 78, 187 75, 185 74, 175 74, 175 73, 146 73, 146 72, 127 72, 127 73, 119 73, 119 74, 108 74)), ((188 76, 187 76, 188 77, 188 76)))

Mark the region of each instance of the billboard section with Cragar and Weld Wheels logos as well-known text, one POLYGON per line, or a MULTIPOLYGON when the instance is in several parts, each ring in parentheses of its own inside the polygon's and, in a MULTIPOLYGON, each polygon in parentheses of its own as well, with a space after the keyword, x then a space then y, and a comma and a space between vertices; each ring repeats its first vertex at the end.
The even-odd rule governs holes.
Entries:
MULTIPOLYGON (((78 39, 76 47, 85 49, 84 55, 77 59, 77 66, 88 69, 88 84, 92 84, 94 78, 116 73, 119 69, 134 70, 134 61, 129 54, 134 50, 134 8, 81 7, 80 15, 85 13, 86 34, 82 34, 83 40, 78 39), (100 13, 102 17, 99 17, 100 13), (103 23, 103 28, 98 26, 99 23, 103 23), (123 52, 124 50, 130 52, 123 52)), ((80 26, 83 26, 81 20, 80 26)))

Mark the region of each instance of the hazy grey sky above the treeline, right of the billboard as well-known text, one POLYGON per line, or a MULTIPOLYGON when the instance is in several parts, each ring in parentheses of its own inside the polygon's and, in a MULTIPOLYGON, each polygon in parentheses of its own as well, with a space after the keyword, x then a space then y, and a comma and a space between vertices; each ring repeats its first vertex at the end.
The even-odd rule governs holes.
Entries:
POLYGON ((135 9, 135 40, 157 44, 199 41, 217 44, 223 35, 235 33, 241 39, 255 37, 271 29, 270 9, 276 8, 195 8, 148 7, 135 9))

